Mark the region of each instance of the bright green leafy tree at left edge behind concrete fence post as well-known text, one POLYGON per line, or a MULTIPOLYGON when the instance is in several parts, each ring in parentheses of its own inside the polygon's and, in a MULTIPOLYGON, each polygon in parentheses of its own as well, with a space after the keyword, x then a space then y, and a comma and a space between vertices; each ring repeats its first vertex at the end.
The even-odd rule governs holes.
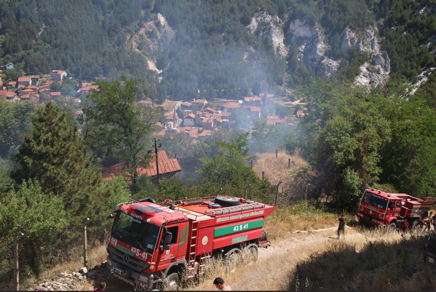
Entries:
POLYGON ((44 264, 57 253, 57 235, 68 226, 68 216, 60 197, 46 194, 37 180, 23 182, 20 190, 10 190, 0 205, 0 278, 13 274, 14 239, 20 233, 20 276, 39 276, 44 264))

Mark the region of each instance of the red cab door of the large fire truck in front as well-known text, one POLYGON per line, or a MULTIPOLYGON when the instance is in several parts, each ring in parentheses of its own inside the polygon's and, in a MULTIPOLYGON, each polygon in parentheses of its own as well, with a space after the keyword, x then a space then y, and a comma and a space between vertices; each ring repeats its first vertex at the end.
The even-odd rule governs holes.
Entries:
POLYGON ((179 239, 179 233, 180 233, 180 224, 170 224, 165 225, 162 228, 162 231, 160 232, 160 238, 159 238, 159 246, 157 248, 158 256, 157 256, 157 263, 160 267, 163 269, 167 268, 171 263, 176 261, 177 259, 177 251, 178 251, 178 239, 179 239), (164 250, 164 233, 170 232, 173 236, 170 242, 170 249, 164 250))

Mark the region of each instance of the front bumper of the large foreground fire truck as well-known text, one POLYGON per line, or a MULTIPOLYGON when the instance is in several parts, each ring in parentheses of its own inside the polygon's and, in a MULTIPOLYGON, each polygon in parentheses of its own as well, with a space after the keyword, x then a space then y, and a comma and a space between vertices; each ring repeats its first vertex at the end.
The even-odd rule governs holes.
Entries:
POLYGON ((115 278, 132 286, 140 285, 144 288, 152 289, 154 283, 161 281, 159 278, 155 281, 153 274, 132 271, 127 266, 114 261, 110 255, 107 257, 106 268, 110 270, 115 278))

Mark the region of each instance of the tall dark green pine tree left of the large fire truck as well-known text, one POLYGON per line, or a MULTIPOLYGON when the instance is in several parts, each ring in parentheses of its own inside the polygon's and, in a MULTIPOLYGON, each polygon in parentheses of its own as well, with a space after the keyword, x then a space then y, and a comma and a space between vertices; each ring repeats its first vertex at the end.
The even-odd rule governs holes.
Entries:
POLYGON ((100 221, 92 215, 102 208, 98 195, 102 177, 91 158, 83 156, 83 148, 77 126, 68 126, 66 113, 48 101, 32 116, 32 133, 11 157, 20 166, 12 174, 17 183, 37 179, 44 193, 63 200, 70 231, 80 228, 86 217, 93 217, 94 225, 100 221))

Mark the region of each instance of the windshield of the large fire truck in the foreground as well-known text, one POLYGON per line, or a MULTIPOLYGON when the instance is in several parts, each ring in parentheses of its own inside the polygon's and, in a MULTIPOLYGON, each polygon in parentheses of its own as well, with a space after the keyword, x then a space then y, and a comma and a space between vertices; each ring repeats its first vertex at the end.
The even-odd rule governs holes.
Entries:
POLYGON ((112 227, 112 236, 126 244, 153 253, 159 229, 156 225, 118 212, 112 227))

